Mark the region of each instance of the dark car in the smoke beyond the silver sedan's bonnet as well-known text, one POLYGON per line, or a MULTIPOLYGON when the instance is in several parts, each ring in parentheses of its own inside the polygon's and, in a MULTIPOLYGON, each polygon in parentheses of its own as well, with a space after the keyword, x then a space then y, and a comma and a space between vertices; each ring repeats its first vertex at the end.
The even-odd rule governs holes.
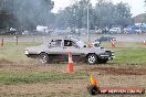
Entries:
POLYGON ((116 41, 116 37, 111 35, 103 35, 100 39, 95 39, 95 42, 111 42, 111 40, 116 41))

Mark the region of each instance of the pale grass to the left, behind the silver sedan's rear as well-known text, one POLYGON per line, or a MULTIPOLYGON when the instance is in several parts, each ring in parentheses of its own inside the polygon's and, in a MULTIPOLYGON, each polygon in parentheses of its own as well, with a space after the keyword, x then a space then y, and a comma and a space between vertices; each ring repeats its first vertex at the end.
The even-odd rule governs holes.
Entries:
POLYGON ((0 47, 0 58, 8 62, 22 62, 29 61, 24 55, 24 48, 28 46, 39 45, 40 43, 22 42, 15 45, 15 43, 6 43, 3 47, 0 47))

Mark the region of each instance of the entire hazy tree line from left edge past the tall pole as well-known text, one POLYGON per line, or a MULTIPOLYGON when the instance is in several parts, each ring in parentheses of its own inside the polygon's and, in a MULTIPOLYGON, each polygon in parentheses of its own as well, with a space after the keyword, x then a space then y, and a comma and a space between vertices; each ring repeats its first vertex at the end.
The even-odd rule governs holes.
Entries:
POLYGON ((52 0, 0 0, 0 29, 34 30, 36 25, 86 28, 87 6, 90 29, 133 23, 131 7, 123 2, 114 4, 111 0, 97 0, 95 7, 88 0, 77 0, 58 13, 52 12, 52 0))

